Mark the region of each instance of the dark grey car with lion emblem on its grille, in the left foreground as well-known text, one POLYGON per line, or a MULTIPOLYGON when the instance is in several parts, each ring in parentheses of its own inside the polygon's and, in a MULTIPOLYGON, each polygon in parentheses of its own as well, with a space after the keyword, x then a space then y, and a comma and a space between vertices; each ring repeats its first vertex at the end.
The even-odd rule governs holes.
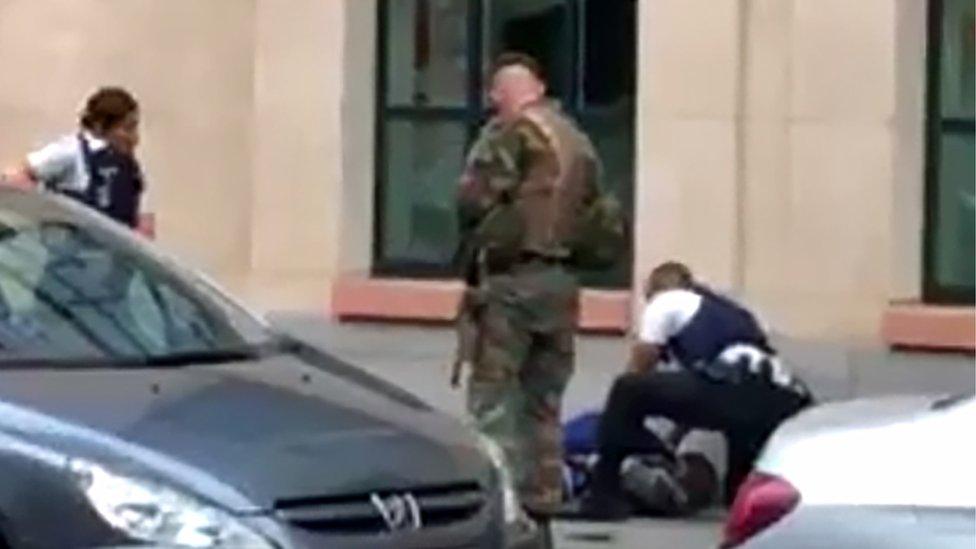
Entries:
POLYGON ((0 190, 0 547, 520 547, 497 447, 140 239, 0 190))

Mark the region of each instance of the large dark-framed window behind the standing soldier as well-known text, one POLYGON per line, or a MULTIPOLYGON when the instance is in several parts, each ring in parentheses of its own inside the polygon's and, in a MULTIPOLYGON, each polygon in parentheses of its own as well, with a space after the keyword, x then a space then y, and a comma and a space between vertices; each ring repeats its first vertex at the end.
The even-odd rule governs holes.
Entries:
MULTIPOLYGON (((550 96, 593 139, 603 184, 633 205, 636 0, 385 0, 379 3, 378 276, 453 276, 454 196, 467 147, 490 115, 485 72, 503 51, 540 60, 550 96)), ((583 273, 627 287, 631 258, 583 273)))

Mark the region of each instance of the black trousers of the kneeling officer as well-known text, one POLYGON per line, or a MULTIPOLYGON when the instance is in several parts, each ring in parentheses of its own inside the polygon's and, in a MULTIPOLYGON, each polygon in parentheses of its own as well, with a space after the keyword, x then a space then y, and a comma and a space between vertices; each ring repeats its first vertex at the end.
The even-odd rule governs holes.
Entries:
POLYGON ((776 427, 810 402, 809 396, 760 379, 719 382, 688 370, 624 374, 614 383, 601 418, 594 488, 608 495, 619 493, 620 466, 627 456, 666 451, 644 427, 648 416, 659 416, 682 427, 725 435, 728 502, 776 427))

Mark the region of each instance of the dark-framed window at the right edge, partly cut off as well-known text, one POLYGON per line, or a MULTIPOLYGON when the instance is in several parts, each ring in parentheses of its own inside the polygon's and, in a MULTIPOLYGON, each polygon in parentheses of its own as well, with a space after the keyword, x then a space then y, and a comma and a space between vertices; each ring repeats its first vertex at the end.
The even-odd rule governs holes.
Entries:
POLYGON ((930 0, 923 298, 976 302, 972 0, 930 0))

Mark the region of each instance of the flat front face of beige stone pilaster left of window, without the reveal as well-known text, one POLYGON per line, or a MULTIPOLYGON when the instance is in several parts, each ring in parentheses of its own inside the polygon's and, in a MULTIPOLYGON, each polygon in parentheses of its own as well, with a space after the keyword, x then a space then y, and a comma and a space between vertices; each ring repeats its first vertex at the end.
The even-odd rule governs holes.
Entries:
POLYGON ((324 306, 341 208, 344 25, 339 2, 257 2, 255 154, 248 294, 324 306))

